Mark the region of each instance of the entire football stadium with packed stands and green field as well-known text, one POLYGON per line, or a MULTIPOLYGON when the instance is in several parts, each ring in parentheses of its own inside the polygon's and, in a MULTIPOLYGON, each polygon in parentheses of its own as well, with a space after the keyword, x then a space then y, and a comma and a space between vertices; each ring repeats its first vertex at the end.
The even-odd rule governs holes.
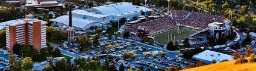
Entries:
MULTIPOLYGON (((128 26, 126 29, 131 33, 135 33, 135 35, 139 30, 145 30, 148 36, 154 37, 155 41, 167 44, 169 41, 181 42, 185 38, 191 38, 192 35, 210 30, 211 27, 213 30, 223 30, 225 28, 226 31, 228 25, 229 20, 220 16, 193 11, 172 10, 167 17, 154 18, 154 20, 128 26)), ((216 34, 217 32, 214 32, 213 36, 219 36, 216 34)))

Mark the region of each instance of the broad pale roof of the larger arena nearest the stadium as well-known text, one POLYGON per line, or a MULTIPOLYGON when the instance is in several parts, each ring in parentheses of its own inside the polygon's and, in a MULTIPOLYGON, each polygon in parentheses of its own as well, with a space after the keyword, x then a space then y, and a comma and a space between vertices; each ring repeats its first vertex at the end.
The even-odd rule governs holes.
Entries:
POLYGON ((94 9, 100 11, 102 14, 105 15, 115 15, 115 14, 126 14, 126 13, 132 13, 134 11, 152 11, 149 8, 136 6, 133 4, 130 4, 129 2, 121 2, 117 4, 110 4, 110 5, 103 5, 99 7, 93 7, 94 9))

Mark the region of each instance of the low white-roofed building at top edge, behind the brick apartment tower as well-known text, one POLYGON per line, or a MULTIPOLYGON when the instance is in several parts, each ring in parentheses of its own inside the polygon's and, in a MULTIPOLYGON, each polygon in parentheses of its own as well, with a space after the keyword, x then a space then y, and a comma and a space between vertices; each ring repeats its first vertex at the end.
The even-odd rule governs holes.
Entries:
POLYGON ((27 10, 33 10, 43 12, 43 11, 61 11, 65 6, 63 4, 58 4, 55 0, 27 0, 26 1, 27 10))

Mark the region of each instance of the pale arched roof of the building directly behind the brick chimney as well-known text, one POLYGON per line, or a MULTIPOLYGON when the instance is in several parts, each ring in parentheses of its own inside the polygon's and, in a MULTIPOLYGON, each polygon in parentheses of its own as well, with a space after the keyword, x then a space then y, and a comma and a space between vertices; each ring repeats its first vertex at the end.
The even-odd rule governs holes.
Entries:
MULTIPOLYGON (((58 23, 63 23, 66 25, 69 24, 69 16, 67 16, 67 15, 53 18, 50 20, 58 22, 58 23)), ((98 23, 98 22, 93 21, 93 20, 83 19, 83 18, 72 17, 72 26, 73 27, 78 27, 78 28, 83 29, 84 27, 86 27, 88 24, 91 24, 91 23, 98 23)))

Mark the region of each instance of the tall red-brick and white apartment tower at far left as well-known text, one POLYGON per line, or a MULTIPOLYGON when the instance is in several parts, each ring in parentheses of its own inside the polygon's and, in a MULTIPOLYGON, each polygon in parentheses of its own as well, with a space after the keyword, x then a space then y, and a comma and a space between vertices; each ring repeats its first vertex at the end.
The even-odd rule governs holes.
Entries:
POLYGON ((23 19, 6 21, 6 47, 13 51, 15 44, 33 45, 40 51, 46 46, 46 21, 37 20, 33 15, 23 19))

